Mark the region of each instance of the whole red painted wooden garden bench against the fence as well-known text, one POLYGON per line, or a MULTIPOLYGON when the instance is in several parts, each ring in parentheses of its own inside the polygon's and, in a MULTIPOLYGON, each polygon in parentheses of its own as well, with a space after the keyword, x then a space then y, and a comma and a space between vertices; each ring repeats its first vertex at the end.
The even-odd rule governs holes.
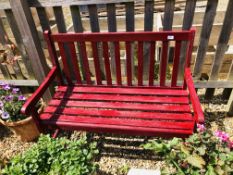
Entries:
POLYGON ((53 67, 44 82, 27 100, 22 113, 33 115, 40 128, 115 132, 131 135, 186 137, 204 115, 190 71, 195 30, 116 33, 44 33, 53 67), (168 48, 175 43, 171 81, 166 80, 168 48), (177 81, 181 43, 187 42, 184 79, 177 81), (90 72, 87 43, 91 45, 94 73, 90 72), (123 44, 122 44, 123 43, 123 44), (134 43, 135 55, 131 46, 134 43), (145 67, 145 43, 149 64, 145 67), (154 81, 155 48, 161 43, 159 80, 154 81), (62 65, 55 51, 58 45, 62 65), (110 46, 111 45, 111 46, 110 46), (124 45, 125 47, 122 47, 124 45), (76 51, 82 55, 83 72, 76 51), (99 47, 103 49, 100 50, 99 47), (115 75, 110 65, 110 47, 115 55, 115 75), (120 48, 126 50, 126 75, 122 75, 120 48), (100 52, 101 51, 101 52, 100 52), (102 55, 102 56, 101 56, 102 55), (132 76, 132 56, 135 77, 132 76), (101 59, 102 64, 101 64, 101 59), (68 68, 69 64, 72 69, 68 68), (101 65, 103 65, 101 67, 101 65), (102 68, 104 73, 102 73, 102 68), (143 73, 148 71, 148 77, 143 73), (81 73, 82 72, 82 73, 81 73), (72 76, 75 78, 72 78, 72 76), (58 82, 56 92, 42 114, 35 104, 47 88, 58 82))

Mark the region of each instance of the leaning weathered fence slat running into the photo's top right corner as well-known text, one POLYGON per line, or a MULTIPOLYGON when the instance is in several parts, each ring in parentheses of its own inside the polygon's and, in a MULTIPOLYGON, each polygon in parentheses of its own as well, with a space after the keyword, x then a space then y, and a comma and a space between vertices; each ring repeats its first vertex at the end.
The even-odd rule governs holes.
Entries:
MULTIPOLYGON (((230 39, 230 34, 233 27, 233 1, 229 1, 227 6, 227 11, 225 14, 223 26, 221 29, 221 33, 218 39, 216 54, 214 57, 213 65, 211 68, 210 78, 209 80, 217 80, 220 68, 223 62, 223 56, 228 47, 228 41, 230 39)), ((210 99, 214 95, 215 89, 210 88, 206 90, 205 97, 210 99)))

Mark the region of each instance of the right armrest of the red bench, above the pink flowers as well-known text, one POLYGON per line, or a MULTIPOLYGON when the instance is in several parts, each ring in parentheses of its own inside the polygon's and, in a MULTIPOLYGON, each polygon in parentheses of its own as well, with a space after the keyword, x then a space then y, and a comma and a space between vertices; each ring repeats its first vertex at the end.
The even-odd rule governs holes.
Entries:
POLYGON ((199 101, 199 98, 197 96, 193 79, 192 79, 192 74, 190 68, 185 69, 185 83, 187 84, 189 94, 190 94, 190 99, 193 105, 193 110, 194 110, 194 117, 197 123, 204 123, 204 113, 201 108, 201 104, 199 101))

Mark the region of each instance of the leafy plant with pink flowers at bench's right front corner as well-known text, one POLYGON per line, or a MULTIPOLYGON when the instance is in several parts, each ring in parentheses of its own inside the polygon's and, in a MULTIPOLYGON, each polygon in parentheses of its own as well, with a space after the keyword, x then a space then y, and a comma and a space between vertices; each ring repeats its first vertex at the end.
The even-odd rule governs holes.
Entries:
POLYGON ((199 132, 182 140, 149 141, 144 149, 152 150, 166 162, 163 174, 227 175, 233 173, 233 142, 227 133, 212 133, 199 125, 199 132), (171 172, 168 168, 175 171, 171 172))

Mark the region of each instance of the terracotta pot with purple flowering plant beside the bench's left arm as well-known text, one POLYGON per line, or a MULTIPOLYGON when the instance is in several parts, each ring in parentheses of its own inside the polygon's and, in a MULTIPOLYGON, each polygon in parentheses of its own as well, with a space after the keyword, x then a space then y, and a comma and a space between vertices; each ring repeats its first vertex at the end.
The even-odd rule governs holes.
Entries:
POLYGON ((25 101, 26 97, 19 88, 0 82, 0 122, 20 136, 22 141, 32 141, 40 133, 33 118, 20 113, 25 101))

